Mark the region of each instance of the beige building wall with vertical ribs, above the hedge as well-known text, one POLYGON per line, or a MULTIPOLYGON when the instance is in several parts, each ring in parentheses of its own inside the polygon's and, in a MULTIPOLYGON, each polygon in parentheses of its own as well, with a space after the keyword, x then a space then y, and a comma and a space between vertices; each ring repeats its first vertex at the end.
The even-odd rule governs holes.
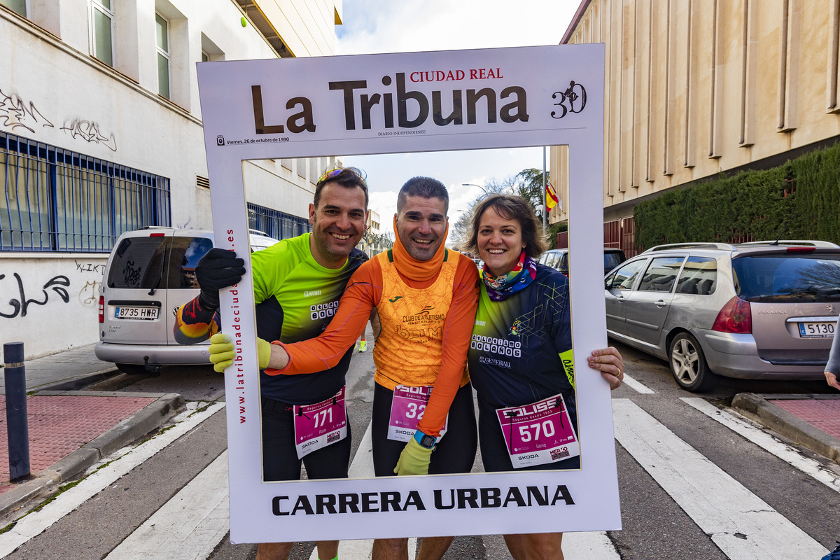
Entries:
POLYGON ((584 0, 564 42, 606 44, 605 219, 837 137, 838 29, 840 0, 584 0))

